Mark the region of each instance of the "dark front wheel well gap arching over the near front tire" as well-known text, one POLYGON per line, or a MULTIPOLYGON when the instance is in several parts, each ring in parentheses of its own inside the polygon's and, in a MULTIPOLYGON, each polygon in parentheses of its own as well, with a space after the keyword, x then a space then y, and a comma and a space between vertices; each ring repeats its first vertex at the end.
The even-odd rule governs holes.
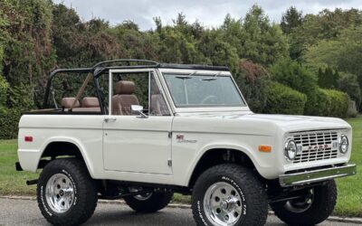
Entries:
POLYGON ((235 149, 211 149, 208 150, 198 161, 191 176, 188 186, 193 187, 197 178, 208 168, 214 165, 233 163, 244 167, 255 169, 250 157, 235 149))

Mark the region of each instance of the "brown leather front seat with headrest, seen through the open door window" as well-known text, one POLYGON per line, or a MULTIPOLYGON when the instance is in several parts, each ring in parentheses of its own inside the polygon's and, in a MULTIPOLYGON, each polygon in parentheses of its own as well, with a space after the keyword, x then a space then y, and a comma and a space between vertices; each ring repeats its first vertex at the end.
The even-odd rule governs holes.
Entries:
POLYGON ((130 106, 139 105, 138 98, 133 95, 135 83, 129 80, 119 80, 112 97, 112 115, 131 115, 130 106))

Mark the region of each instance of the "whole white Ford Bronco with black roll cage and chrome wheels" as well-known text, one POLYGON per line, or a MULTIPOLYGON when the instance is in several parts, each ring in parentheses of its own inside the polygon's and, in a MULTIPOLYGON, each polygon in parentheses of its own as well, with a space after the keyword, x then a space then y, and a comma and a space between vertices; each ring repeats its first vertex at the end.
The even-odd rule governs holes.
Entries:
POLYGON ((87 221, 98 199, 157 212, 173 193, 192 195, 197 225, 263 225, 268 206, 313 225, 334 178, 356 174, 347 122, 254 114, 226 67, 103 61, 52 71, 44 96, 20 120, 16 169, 43 169, 27 184, 54 225, 87 221))

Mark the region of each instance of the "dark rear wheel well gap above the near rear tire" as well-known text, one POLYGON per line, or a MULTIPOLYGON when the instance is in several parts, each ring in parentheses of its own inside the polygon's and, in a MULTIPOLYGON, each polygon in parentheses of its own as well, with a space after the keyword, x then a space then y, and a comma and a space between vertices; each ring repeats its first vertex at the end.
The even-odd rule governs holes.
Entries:
POLYGON ((53 159, 58 156, 74 156, 84 161, 83 156, 81 155, 81 150, 78 146, 70 142, 61 141, 52 142, 46 146, 43 151, 42 158, 51 157, 53 159))

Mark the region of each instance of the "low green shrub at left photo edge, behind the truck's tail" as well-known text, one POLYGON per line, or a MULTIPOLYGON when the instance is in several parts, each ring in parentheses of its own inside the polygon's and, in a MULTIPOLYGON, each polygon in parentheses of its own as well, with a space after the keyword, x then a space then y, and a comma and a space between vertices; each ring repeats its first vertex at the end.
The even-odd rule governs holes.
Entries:
POLYGON ((0 108, 0 139, 17 137, 20 111, 14 108, 0 108))

